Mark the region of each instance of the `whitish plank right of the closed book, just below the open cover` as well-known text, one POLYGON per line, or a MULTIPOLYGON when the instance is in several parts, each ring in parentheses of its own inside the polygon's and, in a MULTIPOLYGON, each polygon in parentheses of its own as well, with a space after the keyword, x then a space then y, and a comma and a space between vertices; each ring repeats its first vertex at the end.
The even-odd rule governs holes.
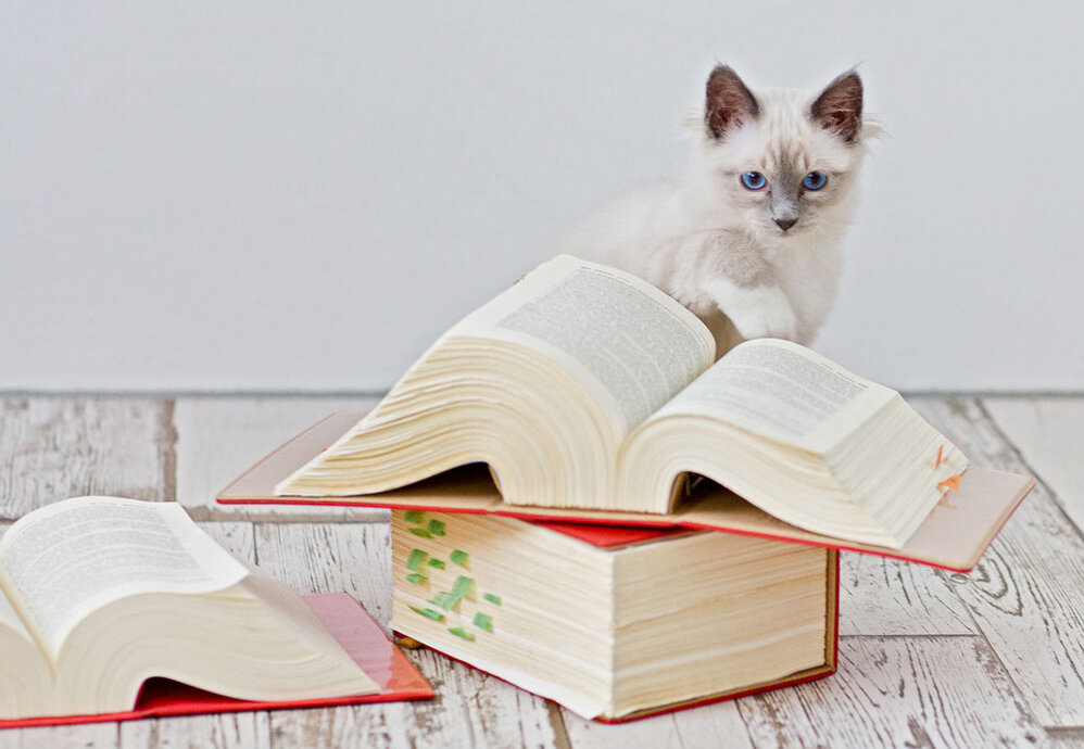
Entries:
POLYGON ((976 632, 967 607, 940 570, 870 554, 842 555, 841 635, 976 632))

